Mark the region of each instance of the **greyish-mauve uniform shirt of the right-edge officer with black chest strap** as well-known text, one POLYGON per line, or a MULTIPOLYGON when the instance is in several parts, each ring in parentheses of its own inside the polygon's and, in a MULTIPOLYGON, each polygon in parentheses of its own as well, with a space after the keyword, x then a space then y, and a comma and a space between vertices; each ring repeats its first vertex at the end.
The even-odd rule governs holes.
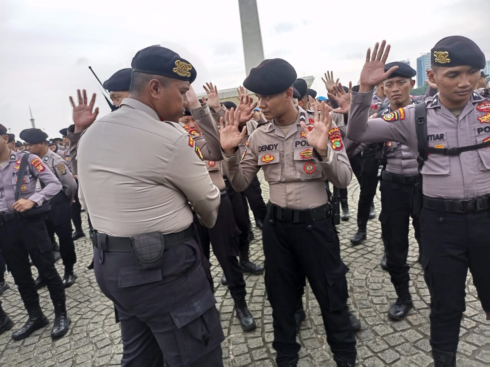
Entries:
MULTIPOLYGON (((347 137, 354 141, 398 141, 418 156, 415 106, 390 117, 368 121, 372 91, 352 92, 347 137), (397 118, 396 118, 397 117, 397 118)), ((431 147, 462 147, 490 138, 490 91, 473 92, 457 119, 441 105, 439 94, 426 100, 427 139, 431 147)), ((461 200, 490 194, 490 148, 461 153, 459 156, 429 155, 424 162, 423 194, 461 200)))

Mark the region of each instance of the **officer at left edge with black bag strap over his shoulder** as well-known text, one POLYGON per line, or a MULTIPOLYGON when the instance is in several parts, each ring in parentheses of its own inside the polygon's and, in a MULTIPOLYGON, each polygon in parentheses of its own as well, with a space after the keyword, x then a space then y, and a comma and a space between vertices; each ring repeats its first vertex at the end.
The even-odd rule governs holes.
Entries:
POLYGON ((61 190, 62 185, 38 156, 9 150, 6 129, 1 125, 0 136, 0 248, 29 315, 24 326, 15 331, 12 338, 25 339, 49 324, 39 305, 29 256, 48 283, 55 315, 51 337, 59 338, 67 333, 70 318, 66 312, 65 289, 54 267, 50 251, 52 244, 43 216, 49 210, 48 200, 61 190), (21 169, 24 166, 25 169, 21 169), (44 188, 36 192, 38 179, 44 188))

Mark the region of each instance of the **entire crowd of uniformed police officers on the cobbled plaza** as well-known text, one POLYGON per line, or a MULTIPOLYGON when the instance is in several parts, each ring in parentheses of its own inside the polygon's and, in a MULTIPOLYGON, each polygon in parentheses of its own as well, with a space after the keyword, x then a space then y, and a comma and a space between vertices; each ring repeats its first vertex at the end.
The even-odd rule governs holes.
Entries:
MULTIPOLYGON (((62 132, 65 149, 28 129, 20 136, 26 151, 17 151, 23 143, 1 126, 0 248, 29 315, 12 338, 49 324, 36 292, 44 284, 55 310, 51 336, 69 329, 64 287, 76 278, 73 239, 84 236, 72 204, 79 197, 94 246, 90 267, 121 322, 121 366, 223 366, 210 246, 243 330, 255 329, 243 273, 261 274, 264 266, 249 259, 249 205, 262 229, 277 366, 298 364, 306 279, 335 363, 355 366, 361 325, 347 307, 349 269, 335 228, 349 219, 346 187, 354 173, 361 191, 353 246, 367 238, 381 179, 381 265, 397 294, 388 318, 403 320, 413 307, 412 219, 431 296, 435 366, 456 366, 468 268, 490 315, 490 92, 477 89, 484 87, 485 57, 465 37, 442 39, 431 50, 427 93, 415 97, 416 71, 386 63, 389 51, 385 41, 368 49, 353 88, 325 74, 328 105, 288 62, 265 60, 243 83, 257 102, 241 88, 236 105, 220 103, 211 83, 201 103, 191 85, 193 65, 150 46, 103 84, 113 101, 109 115, 95 122, 95 94, 89 102, 78 91, 78 104, 70 97, 74 124, 62 132), (144 164, 141 151, 122 146, 142 147, 144 164), (54 266, 54 233, 63 280, 54 266)), ((13 326, 3 311, 0 321, 0 332, 13 326)))

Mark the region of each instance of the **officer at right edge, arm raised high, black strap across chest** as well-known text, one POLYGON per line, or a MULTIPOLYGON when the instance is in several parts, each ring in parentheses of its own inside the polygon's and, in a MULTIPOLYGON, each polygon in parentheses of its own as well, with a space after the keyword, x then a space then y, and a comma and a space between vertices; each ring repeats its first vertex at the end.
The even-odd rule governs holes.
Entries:
POLYGON ((468 267, 490 318, 490 150, 484 149, 490 136, 490 92, 473 91, 485 57, 466 37, 442 39, 431 50, 428 72, 439 93, 427 99, 426 109, 408 106, 368 122, 373 86, 396 68, 384 69, 389 53, 388 46, 383 54, 385 44, 379 52, 376 44, 372 59, 368 50, 359 92, 352 92, 347 136, 355 141, 399 141, 418 155, 422 267, 431 295, 430 344, 435 366, 456 366, 468 267))

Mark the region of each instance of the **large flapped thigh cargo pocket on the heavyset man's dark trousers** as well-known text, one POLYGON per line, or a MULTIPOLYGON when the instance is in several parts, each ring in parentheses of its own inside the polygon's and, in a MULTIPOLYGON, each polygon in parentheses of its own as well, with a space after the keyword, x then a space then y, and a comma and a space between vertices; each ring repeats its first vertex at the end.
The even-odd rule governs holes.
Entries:
POLYGON ((196 362, 224 340, 215 303, 211 291, 205 290, 171 311, 175 338, 184 366, 196 362))

